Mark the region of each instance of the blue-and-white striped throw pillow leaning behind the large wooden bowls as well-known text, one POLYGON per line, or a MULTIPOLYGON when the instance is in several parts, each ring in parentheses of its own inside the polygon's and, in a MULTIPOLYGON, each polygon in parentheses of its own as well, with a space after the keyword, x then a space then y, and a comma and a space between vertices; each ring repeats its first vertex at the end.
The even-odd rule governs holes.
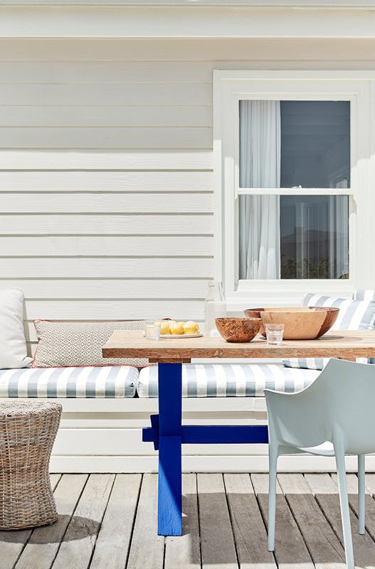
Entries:
MULTIPOLYGON (((321 294, 305 294, 302 299, 302 307, 339 308, 339 316, 332 326, 332 330, 375 329, 375 302, 326 297, 321 294)), ((363 358, 360 359, 363 360, 363 358)), ((328 361, 329 358, 289 358, 282 360, 282 363, 287 368, 322 370, 328 361)))

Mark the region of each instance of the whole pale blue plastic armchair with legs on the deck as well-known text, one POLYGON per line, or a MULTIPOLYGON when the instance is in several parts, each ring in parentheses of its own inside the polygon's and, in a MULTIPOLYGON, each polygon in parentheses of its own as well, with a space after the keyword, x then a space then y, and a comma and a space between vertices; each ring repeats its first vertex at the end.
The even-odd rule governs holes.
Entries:
POLYGON ((334 456, 347 568, 354 569, 345 454, 358 457, 359 533, 364 533, 364 457, 375 452, 375 366, 332 359, 306 389, 265 389, 269 434, 268 550, 275 549, 276 472, 280 454, 334 456))

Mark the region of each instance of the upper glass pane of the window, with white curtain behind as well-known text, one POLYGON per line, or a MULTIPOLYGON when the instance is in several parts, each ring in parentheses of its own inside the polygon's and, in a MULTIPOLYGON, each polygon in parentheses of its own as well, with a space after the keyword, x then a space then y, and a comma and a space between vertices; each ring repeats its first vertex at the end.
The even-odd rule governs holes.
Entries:
POLYGON ((240 101, 241 188, 347 188, 349 101, 240 101))

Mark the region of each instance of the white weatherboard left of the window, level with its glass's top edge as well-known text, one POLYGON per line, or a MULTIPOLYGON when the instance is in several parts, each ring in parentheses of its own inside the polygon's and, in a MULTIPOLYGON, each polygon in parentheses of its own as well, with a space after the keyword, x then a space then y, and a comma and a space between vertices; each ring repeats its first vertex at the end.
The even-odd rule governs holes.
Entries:
POLYGON ((0 89, 0 105, 211 104, 211 83, 23 83, 0 89))

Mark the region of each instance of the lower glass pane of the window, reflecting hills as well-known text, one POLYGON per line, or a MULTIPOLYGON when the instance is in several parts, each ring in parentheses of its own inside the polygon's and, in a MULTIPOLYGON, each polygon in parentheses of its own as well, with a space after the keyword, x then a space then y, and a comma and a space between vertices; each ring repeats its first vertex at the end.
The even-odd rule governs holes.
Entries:
POLYGON ((240 196, 240 279, 349 277, 348 196, 240 196))

